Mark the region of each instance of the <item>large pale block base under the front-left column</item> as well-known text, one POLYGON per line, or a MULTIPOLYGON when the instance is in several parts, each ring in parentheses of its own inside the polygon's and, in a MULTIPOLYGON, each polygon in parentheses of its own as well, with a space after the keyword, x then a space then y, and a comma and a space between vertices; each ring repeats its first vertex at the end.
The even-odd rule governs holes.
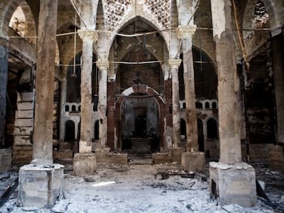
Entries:
POLYGON ((63 168, 27 164, 19 171, 18 203, 23 207, 51 208, 62 199, 63 168))

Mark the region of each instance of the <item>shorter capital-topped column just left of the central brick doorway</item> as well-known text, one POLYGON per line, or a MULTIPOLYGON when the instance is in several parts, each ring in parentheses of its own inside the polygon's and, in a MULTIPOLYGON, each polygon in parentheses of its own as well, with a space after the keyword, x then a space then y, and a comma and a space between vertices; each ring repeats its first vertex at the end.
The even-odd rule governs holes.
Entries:
POLYGON ((99 149, 106 149, 107 142, 107 77, 108 77, 108 61, 97 61, 97 67, 99 68, 99 149))

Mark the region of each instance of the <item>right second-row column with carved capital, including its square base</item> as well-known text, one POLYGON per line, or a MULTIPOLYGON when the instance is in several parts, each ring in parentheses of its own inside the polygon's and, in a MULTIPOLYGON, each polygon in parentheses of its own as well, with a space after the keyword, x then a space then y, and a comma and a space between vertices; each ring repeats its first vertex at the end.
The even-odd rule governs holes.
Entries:
POLYGON ((181 165, 184 171, 204 171, 204 153, 198 152, 198 128, 196 118, 196 91, 192 55, 192 37, 196 25, 178 26, 177 36, 182 39, 183 77, 185 82, 185 101, 187 116, 187 152, 182 153, 181 165))

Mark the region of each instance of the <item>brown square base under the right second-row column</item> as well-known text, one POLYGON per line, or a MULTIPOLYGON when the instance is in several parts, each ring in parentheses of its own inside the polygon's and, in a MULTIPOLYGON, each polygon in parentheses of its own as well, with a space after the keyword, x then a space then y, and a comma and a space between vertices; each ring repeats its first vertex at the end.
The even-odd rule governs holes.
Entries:
POLYGON ((183 171, 204 171, 205 157, 203 152, 185 152, 181 155, 183 171))

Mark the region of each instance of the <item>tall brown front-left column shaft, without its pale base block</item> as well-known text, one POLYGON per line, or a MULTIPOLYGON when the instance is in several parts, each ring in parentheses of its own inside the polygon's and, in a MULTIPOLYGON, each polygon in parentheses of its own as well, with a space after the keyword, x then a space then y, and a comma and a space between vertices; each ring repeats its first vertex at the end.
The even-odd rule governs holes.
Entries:
POLYGON ((53 164, 52 132, 58 1, 40 1, 36 58, 33 164, 53 164))

